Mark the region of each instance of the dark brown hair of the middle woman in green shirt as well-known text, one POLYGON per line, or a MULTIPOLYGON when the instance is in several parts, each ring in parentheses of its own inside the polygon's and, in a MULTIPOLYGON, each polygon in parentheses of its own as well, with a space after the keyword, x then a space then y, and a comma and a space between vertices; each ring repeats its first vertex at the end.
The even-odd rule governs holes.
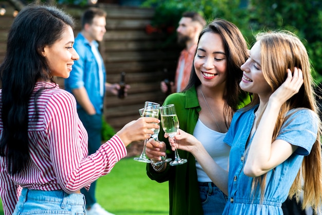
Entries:
MULTIPOLYGON (((214 19, 209 23, 200 33, 198 44, 202 35, 206 32, 218 33, 223 39, 223 45, 227 58, 227 79, 226 79, 226 92, 224 98, 226 100, 224 106, 224 117, 227 128, 230 126, 230 120, 234 115, 243 98, 248 94, 243 92, 239 86, 243 72, 240 66, 248 59, 247 43, 243 34, 238 27, 229 21, 223 19, 214 19)), ((196 52, 195 52, 196 53, 196 52)), ((189 82, 184 89, 186 91, 193 85, 199 86, 201 81, 195 73, 194 66, 191 68, 191 75, 189 82)))

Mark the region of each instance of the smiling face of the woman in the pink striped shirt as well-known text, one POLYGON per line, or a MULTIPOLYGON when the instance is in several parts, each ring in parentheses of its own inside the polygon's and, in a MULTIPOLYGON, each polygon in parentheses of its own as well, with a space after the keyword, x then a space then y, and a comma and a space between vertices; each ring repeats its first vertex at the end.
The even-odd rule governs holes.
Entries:
POLYGON ((48 62, 52 76, 69 77, 74 61, 79 59, 73 44, 74 32, 70 26, 67 26, 60 40, 44 47, 42 54, 48 62))

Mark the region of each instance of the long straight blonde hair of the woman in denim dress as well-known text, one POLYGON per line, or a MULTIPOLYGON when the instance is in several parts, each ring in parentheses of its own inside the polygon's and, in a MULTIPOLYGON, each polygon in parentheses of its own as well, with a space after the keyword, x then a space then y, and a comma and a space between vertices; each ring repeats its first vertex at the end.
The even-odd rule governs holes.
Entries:
MULTIPOLYGON (((311 65, 305 46, 289 31, 274 31, 259 33, 256 41, 261 47, 261 67, 265 80, 274 92, 286 79, 287 69, 292 71, 294 67, 300 68, 303 73, 303 85, 299 92, 285 102, 280 109, 275 124, 272 142, 276 139, 282 124, 290 116, 285 117, 288 111, 295 108, 307 108, 318 115, 317 102, 315 100, 314 82, 311 76, 311 65)), ((259 103, 258 95, 254 95, 249 109, 259 103)), ((263 112, 260 113, 260 117, 263 112)), ((260 121, 260 120, 258 120, 260 121)), ((321 123, 311 153, 305 156, 295 181, 289 191, 290 198, 299 201, 299 195, 303 191, 302 208, 312 206, 316 211, 321 205, 322 182, 321 182, 321 123)), ((252 188, 260 185, 263 198, 266 183, 266 174, 254 178, 252 188)))

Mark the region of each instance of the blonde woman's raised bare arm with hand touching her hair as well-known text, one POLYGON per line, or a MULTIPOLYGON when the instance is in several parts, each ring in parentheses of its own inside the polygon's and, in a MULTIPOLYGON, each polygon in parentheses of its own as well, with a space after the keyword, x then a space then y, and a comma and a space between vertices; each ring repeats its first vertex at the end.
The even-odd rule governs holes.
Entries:
POLYGON ((297 94, 303 84, 301 69, 295 67, 293 75, 288 69, 287 74, 285 82, 270 96, 249 147, 244 167, 244 173, 248 176, 259 176, 270 171, 284 162, 297 149, 287 141, 274 140, 272 142, 274 127, 282 104, 297 94))

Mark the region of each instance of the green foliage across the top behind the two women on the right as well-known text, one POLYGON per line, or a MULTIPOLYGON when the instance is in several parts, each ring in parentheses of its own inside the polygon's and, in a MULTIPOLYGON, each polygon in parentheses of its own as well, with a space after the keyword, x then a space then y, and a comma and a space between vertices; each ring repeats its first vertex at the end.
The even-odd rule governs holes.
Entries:
MULTIPOLYGON (((322 81, 322 2, 280 0, 146 0, 144 7, 156 10, 152 25, 174 25, 183 11, 193 10, 207 22, 221 17, 234 23, 249 45, 260 31, 290 30, 305 44, 312 61, 313 77, 322 81)), ((175 31, 171 35, 175 40, 175 31)))

